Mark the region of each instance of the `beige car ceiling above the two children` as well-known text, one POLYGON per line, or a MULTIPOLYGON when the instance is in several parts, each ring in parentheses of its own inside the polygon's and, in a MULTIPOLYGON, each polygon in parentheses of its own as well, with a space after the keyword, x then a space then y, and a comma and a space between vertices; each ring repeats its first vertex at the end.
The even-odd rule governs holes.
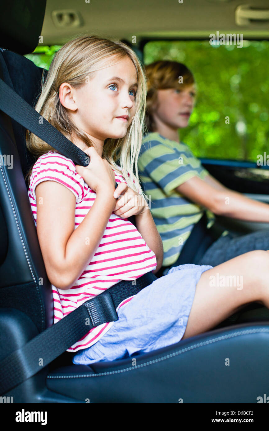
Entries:
POLYGON ((47 0, 41 35, 45 45, 61 45, 85 33, 130 42, 136 36, 137 43, 209 38, 216 31, 269 39, 269 20, 236 24, 235 11, 241 5, 269 11, 268 0, 47 0))

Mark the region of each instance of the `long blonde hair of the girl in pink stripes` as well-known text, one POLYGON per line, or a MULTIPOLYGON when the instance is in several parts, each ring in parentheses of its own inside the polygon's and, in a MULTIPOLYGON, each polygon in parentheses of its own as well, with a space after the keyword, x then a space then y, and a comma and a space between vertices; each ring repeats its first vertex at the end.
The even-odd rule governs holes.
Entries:
MULTIPOLYGON (((81 35, 64 44, 54 55, 51 66, 44 80, 41 82, 41 93, 35 110, 50 122, 65 137, 70 139, 71 134, 82 140, 87 147, 94 146, 89 137, 71 121, 66 108, 60 103, 60 84, 67 82, 74 88, 79 88, 85 84, 85 79, 91 79, 98 71, 99 62, 108 60, 109 57, 123 59, 129 57, 133 62, 137 74, 137 92, 135 100, 135 116, 127 129, 123 138, 104 141, 102 157, 106 159, 111 167, 119 171, 127 182, 128 187, 134 188, 133 180, 142 196, 148 201, 139 182, 138 156, 142 145, 144 132, 144 116, 146 111, 146 76, 133 50, 122 42, 100 38, 96 35, 81 35), (128 176, 128 172, 130 176, 128 176)), ((112 60, 112 59, 111 59, 112 60)), ((26 146, 28 150, 35 154, 37 158, 49 150, 55 151, 51 145, 42 141, 30 131, 26 131, 26 146)), ((25 176, 28 184, 32 168, 25 176)))

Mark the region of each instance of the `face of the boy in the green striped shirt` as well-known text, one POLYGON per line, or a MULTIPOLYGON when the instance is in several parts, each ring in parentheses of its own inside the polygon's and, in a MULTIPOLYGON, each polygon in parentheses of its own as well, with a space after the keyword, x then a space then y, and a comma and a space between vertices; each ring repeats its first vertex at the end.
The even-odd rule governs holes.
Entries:
POLYGON ((152 112, 157 124, 162 122, 173 129, 187 127, 195 103, 195 85, 188 85, 181 90, 166 88, 157 90, 157 93, 157 103, 152 112))

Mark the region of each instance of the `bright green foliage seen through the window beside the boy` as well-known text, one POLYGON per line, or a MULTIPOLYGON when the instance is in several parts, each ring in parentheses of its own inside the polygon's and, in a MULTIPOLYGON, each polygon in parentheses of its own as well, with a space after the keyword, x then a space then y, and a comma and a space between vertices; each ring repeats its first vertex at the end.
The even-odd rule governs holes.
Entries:
POLYGON ((147 43, 145 64, 157 60, 183 62, 193 72, 196 107, 180 140, 196 156, 256 162, 268 152, 268 41, 244 41, 242 48, 209 41, 147 43))

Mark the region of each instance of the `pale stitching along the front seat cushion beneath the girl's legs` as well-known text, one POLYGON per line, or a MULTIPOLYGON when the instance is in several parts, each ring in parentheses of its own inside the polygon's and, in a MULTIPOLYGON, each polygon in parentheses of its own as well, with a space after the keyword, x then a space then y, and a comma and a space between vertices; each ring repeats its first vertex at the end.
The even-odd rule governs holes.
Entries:
POLYGON ((197 347, 205 346, 206 344, 216 343, 217 341, 225 340, 227 338, 231 337, 238 337, 239 335, 245 335, 245 334, 251 334, 255 332, 269 332, 269 329, 262 328, 262 329, 248 329, 245 331, 239 331, 239 332, 233 332, 232 334, 222 335, 221 337, 211 338, 210 340, 203 341, 201 343, 192 344, 189 347, 186 347, 184 349, 178 350, 177 352, 170 353, 169 355, 162 356, 157 359, 152 359, 152 361, 144 362, 143 364, 139 365, 132 365, 129 368, 124 368, 121 370, 115 370, 115 371, 108 371, 104 373, 98 373, 98 374, 84 374, 84 375, 63 375, 63 376, 50 376, 48 375, 47 378, 81 378, 81 377, 98 377, 98 376, 104 376, 104 375, 111 375, 111 374, 118 374, 126 371, 131 371, 136 368, 145 367, 147 365, 154 364, 155 362, 160 362, 165 359, 169 359, 172 356, 180 355, 181 353, 187 352, 188 350, 196 349, 197 347))

